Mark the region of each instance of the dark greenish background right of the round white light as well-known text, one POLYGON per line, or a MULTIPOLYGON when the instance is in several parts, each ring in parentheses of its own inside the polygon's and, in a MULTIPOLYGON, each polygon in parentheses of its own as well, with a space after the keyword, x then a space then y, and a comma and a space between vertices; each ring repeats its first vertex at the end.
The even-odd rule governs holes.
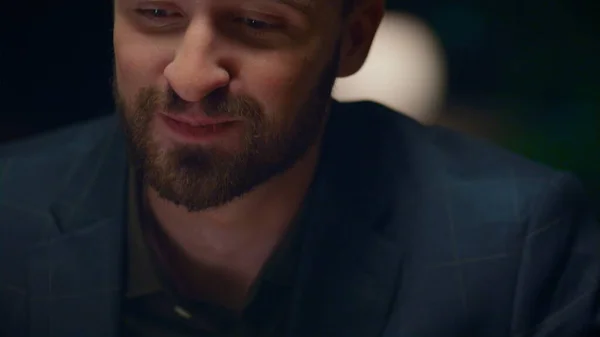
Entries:
POLYGON ((390 7, 415 13, 440 36, 449 124, 485 121, 476 133, 576 172, 600 205, 597 1, 396 0, 390 7))

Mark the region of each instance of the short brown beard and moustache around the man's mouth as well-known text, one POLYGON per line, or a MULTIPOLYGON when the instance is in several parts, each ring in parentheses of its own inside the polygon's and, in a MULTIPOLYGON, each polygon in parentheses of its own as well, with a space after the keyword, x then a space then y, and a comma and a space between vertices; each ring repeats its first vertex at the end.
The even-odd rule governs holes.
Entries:
POLYGON ((338 63, 339 44, 296 111, 277 111, 273 118, 266 118, 261 105, 248 96, 231 97, 216 90, 204 97, 201 107, 208 116, 244 120, 242 147, 235 152, 217 146, 161 146, 152 135, 156 112, 176 114, 189 103, 171 88, 149 86, 128 104, 114 76, 114 98, 137 177, 161 198, 197 212, 224 205, 286 172, 323 131, 338 63))

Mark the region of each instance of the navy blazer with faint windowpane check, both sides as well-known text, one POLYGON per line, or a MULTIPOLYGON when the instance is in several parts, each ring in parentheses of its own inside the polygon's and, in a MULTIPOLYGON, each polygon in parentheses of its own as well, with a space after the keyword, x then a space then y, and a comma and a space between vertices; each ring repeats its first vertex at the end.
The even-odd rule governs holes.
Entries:
MULTIPOLYGON (((127 157, 110 116, 0 148, 0 336, 117 337, 127 157)), ((579 183, 373 103, 335 103, 284 337, 598 329, 579 183)))

